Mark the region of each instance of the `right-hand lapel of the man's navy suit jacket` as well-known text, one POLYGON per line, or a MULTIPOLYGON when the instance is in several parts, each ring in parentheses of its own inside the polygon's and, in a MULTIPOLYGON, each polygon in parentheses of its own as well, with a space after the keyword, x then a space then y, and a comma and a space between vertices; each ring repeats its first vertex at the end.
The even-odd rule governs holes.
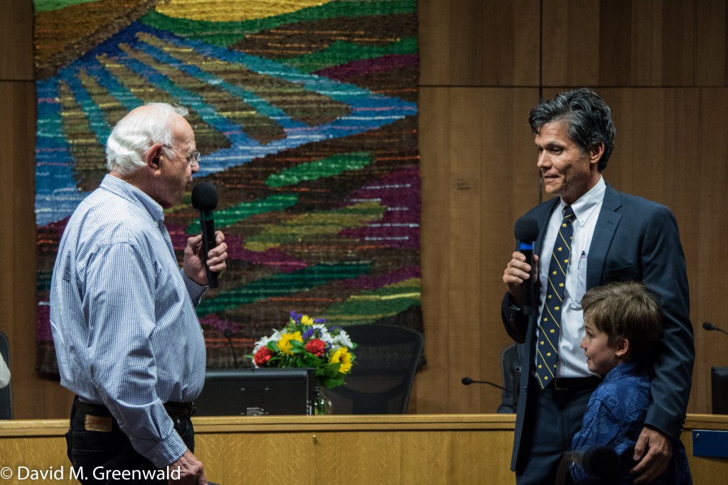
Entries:
POLYGON ((614 231, 617 231, 622 216, 616 211, 622 207, 622 196, 615 191, 611 185, 606 185, 604 202, 602 202, 599 219, 594 228, 594 236, 589 247, 587 263, 587 289, 601 284, 601 275, 604 273, 604 262, 609 246, 614 239, 614 231))

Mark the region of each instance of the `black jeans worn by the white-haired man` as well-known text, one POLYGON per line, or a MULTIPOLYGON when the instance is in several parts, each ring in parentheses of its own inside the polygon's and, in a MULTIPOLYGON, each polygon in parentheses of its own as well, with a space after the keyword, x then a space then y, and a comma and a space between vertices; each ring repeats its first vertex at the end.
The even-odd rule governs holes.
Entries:
MULTIPOLYGON (((89 413, 91 414, 91 413, 89 413)), ((100 413, 94 413, 100 414, 100 413)), ((96 428, 106 428, 111 420, 111 430, 87 430, 87 413, 82 412, 74 403, 71 409, 71 429, 66 433, 68 458, 74 466, 74 476, 82 484, 160 484, 166 485, 167 479, 159 479, 159 470, 154 464, 135 452, 129 438, 119 428, 119 424, 112 417, 102 417, 103 425, 96 428), (127 471, 127 475, 122 473, 127 471), (129 478, 132 470, 138 470, 129 478), (146 470, 146 475, 143 474, 146 470), (146 477, 149 479, 138 478, 146 477)), ((189 417, 170 415, 175 430, 184 443, 194 452, 194 429, 189 417)), ((95 418, 92 418, 94 420, 95 418)), ((98 420, 98 418, 96 418, 98 420)))

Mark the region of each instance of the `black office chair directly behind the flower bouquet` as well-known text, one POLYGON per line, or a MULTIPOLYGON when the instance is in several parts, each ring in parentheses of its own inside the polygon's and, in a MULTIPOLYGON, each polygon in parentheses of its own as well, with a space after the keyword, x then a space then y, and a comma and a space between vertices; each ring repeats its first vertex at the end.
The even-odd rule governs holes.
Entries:
POLYGON ((404 414, 407 412, 424 337, 404 326, 348 325, 358 347, 352 373, 344 384, 325 390, 333 414, 404 414))

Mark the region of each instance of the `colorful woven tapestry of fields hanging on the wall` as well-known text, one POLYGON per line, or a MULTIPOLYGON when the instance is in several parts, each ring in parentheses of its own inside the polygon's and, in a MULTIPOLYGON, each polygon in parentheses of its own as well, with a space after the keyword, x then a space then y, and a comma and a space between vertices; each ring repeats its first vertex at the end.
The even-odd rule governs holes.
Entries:
MULTIPOLYGON (((291 310, 422 330, 416 0, 35 0, 39 372, 68 217, 132 108, 189 108, 227 270, 197 308, 207 366, 291 310)), ((199 212, 165 213, 181 262, 199 212)), ((250 365, 249 361, 245 362, 250 365)))

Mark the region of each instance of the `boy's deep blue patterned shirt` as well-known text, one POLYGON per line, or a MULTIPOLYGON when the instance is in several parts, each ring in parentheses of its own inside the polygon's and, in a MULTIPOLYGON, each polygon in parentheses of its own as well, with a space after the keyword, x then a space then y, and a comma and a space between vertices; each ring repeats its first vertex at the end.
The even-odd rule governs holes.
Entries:
MULTIPOLYGON (((633 484, 631 470, 637 462, 632 460, 637 438, 644 428, 649 406, 649 375, 633 362, 625 362, 609 371, 589 399, 582 429, 574 435, 571 449, 585 452, 593 446, 607 446, 617 452, 620 459, 620 478, 610 484, 633 484)), ((574 484, 600 484, 584 468, 571 464, 574 484)), ((691 485, 690 468, 685 447, 673 442, 673 457, 668 470, 650 484, 691 485)))

